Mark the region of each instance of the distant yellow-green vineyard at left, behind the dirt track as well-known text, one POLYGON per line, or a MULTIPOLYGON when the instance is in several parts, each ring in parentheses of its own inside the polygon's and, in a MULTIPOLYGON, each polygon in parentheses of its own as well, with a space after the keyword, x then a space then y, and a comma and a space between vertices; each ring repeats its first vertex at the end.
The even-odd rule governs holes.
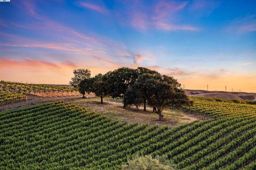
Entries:
POLYGON ((44 98, 80 95, 73 87, 5 81, 0 82, 0 90, 3 101, 13 101, 25 98, 25 96, 28 95, 41 96, 44 98), (16 98, 14 94, 16 94, 16 98))

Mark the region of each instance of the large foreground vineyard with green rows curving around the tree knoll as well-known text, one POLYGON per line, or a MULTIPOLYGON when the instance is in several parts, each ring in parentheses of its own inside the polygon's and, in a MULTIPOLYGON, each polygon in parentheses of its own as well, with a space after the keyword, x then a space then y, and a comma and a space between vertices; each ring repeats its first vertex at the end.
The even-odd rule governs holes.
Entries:
POLYGON ((64 102, 1 112, 0 169, 121 169, 149 154, 183 170, 255 169, 256 106, 194 100, 186 111, 212 118, 169 129, 64 102))

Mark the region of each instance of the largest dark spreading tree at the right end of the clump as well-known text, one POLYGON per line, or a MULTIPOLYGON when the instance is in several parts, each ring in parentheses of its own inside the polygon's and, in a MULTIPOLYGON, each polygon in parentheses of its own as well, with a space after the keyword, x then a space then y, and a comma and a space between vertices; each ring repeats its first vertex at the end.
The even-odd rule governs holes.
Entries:
MULTIPOLYGON (((144 72, 150 72, 150 70, 144 72)), ((141 71, 142 72, 142 71, 141 71)), ((146 110, 146 101, 152 107, 156 107, 159 119, 163 119, 161 112, 164 108, 181 108, 189 106, 190 102, 185 91, 180 87, 176 79, 166 75, 141 74, 129 90, 125 93, 124 104, 144 103, 146 110)))

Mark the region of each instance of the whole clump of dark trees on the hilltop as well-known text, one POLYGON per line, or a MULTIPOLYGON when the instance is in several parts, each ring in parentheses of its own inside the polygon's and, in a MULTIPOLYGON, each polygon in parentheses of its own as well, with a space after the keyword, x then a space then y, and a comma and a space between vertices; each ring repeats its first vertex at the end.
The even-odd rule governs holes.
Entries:
POLYGON ((162 111, 166 107, 190 105, 177 79, 144 67, 122 67, 94 77, 91 77, 89 69, 78 69, 74 70, 74 75, 70 84, 78 88, 83 97, 85 93, 94 93, 100 96, 101 103, 104 96, 121 97, 124 108, 132 104, 139 108, 143 104, 145 111, 148 104, 154 108, 159 120, 163 120, 162 111))

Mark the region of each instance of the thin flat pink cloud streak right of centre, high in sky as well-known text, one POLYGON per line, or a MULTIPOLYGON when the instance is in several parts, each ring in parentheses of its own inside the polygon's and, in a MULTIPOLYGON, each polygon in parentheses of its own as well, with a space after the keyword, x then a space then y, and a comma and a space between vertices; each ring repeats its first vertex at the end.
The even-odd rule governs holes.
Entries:
POLYGON ((188 30, 188 31, 198 31, 198 28, 192 27, 192 26, 186 26, 186 25, 171 25, 163 22, 157 22, 156 28, 159 30, 168 30, 168 31, 174 31, 174 30, 188 30))

